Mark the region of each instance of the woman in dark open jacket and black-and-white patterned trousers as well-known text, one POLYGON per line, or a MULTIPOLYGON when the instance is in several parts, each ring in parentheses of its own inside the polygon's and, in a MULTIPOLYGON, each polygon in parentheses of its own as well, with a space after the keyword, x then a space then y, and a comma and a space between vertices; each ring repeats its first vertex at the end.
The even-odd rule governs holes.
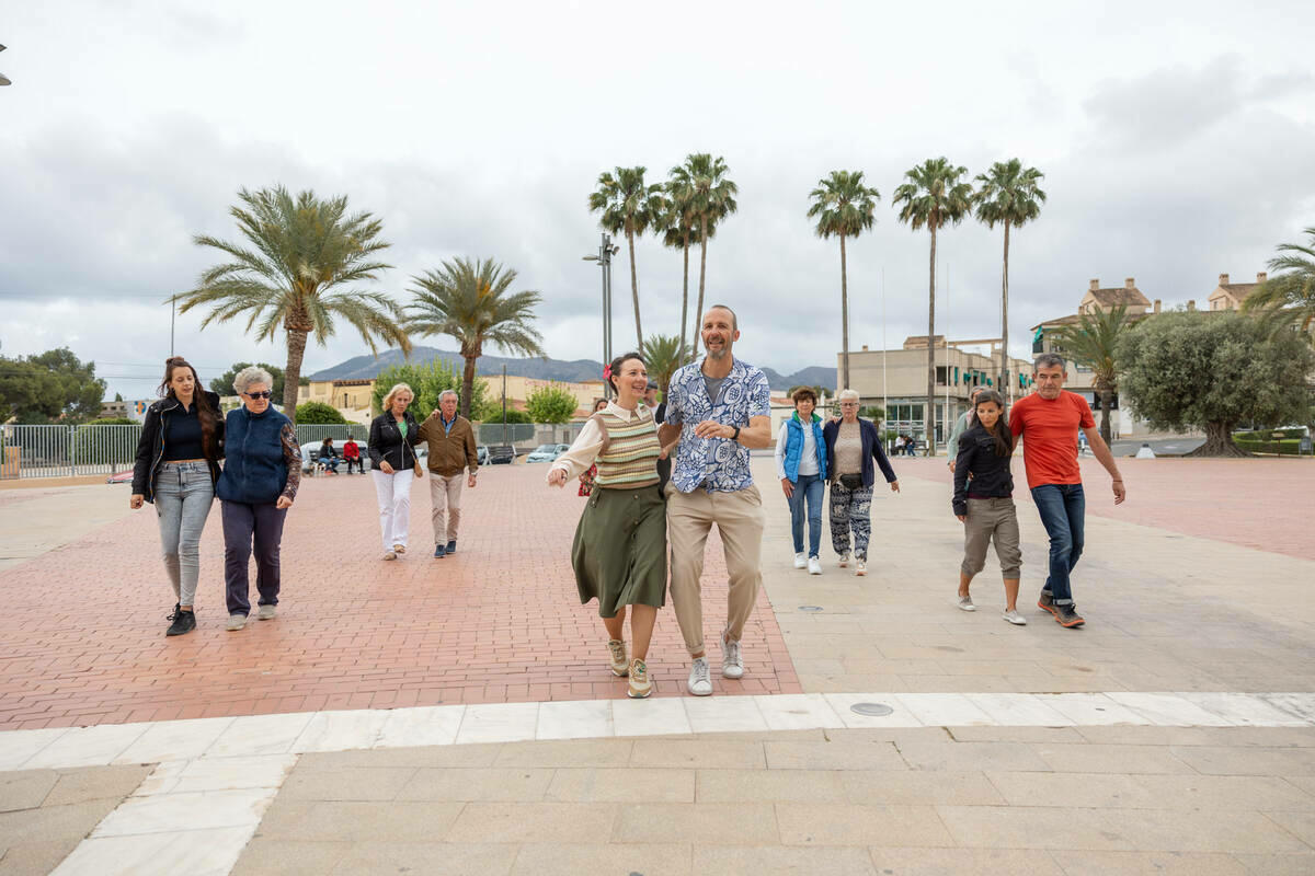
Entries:
POLYGON ((892 493, 899 493, 899 481, 886 460, 886 452, 881 449, 876 424, 859 416, 859 393, 843 389, 836 398, 840 419, 828 422, 822 429, 826 470, 831 479, 831 548, 840 557, 842 569, 852 559, 853 574, 867 575, 872 489, 877 482, 873 461, 881 466, 892 493))

